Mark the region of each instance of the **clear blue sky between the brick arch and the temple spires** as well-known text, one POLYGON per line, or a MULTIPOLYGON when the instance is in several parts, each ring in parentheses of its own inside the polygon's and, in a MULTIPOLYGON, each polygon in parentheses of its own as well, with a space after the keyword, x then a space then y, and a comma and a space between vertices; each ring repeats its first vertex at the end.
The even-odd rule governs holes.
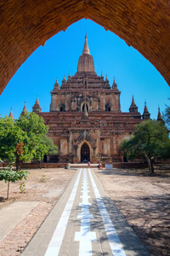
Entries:
POLYGON ((25 101, 27 110, 31 112, 37 95, 42 112, 48 112, 50 91, 56 78, 60 85, 64 75, 67 79, 69 71, 71 76, 77 72, 86 32, 95 72, 98 75, 102 72, 104 77, 107 74, 111 85, 115 77, 117 87, 122 92, 122 112, 128 112, 134 96, 139 112, 143 113, 146 101, 151 118, 156 119, 158 105, 161 112, 165 104, 169 105, 167 82, 136 49, 127 46, 114 33, 106 32, 102 26, 84 19, 50 38, 23 63, 0 96, 1 116, 8 115, 12 107, 14 119, 19 118, 25 101))

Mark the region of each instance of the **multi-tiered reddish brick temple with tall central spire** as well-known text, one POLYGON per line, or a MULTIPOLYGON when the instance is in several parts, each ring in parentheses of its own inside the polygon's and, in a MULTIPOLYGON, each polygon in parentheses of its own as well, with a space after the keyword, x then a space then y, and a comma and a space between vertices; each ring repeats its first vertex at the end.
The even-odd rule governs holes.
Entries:
POLYGON ((80 55, 77 73, 65 77, 59 87, 58 79, 51 91, 48 113, 41 112, 37 99, 33 107, 49 126, 48 137, 59 148, 58 155, 51 161, 87 162, 122 161, 120 143, 130 137, 135 125, 150 119, 144 105, 141 115, 132 99, 128 113, 121 111, 121 92, 114 79, 109 80, 95 73, 94 59, 88 48, 88 38, 80 55))

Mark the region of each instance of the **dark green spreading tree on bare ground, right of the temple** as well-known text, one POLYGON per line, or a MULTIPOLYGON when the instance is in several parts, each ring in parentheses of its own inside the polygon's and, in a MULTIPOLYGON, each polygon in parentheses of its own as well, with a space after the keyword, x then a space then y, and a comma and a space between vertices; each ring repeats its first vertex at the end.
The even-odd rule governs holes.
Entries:
POLYGON ((145 158, 149 170, 154 173, 154 161, 170 156, 170 140, 163 122, 147 120, 136 125, 129 140, 123 140, 121 149, 127 158, 145 158))

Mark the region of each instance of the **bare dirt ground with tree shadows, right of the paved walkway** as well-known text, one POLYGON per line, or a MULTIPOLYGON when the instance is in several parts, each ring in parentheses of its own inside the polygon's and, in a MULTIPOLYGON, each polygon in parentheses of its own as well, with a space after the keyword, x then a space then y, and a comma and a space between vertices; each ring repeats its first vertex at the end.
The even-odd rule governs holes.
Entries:
POLYGON ((97 171, 105 191, 151 255, 170 255, 170 168, 97 171))

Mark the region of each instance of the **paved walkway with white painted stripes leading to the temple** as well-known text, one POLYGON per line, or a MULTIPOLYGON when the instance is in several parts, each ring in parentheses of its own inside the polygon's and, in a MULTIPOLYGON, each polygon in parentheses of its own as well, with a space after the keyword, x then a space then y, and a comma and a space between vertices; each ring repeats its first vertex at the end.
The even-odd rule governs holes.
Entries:
POLYGON ((22 256, 150 255, 93 169, 81 168, 22 256))

